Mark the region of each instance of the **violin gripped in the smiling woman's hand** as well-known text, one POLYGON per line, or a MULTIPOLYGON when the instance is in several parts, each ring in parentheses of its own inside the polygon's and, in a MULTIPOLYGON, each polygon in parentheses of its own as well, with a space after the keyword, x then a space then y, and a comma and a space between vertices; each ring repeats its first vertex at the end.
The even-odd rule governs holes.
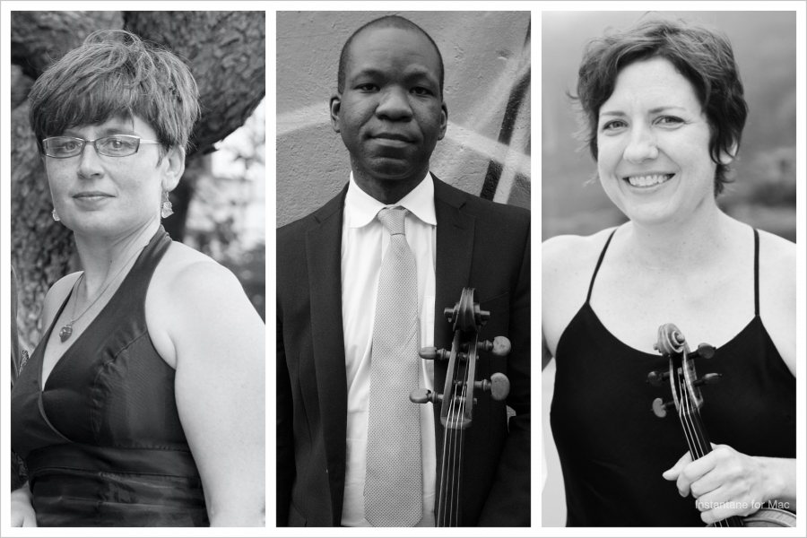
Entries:
MULTIPOLYGON (((664 402, 662 398, 653 401, 653 412, 655 416, 664 418, 674 408, 678 412, 690 456, 693 460, 706 456, 711 452, 712 444, 700 416, 703 406, 700 387, 716 383, 721 374, 698 377, 694 360, 711 359, 715 356, 715 348, 701 343, 696 351, 690 351, 681 330, 672 323, 658 328, 658 341, 653 347, 669 359, 669 369, 650 372, 647 381, 651 385, 662 386, 664 381, 669 380, 672 392, 672 401, 664 402)), ((708 526, 795 526, 795 515, 780 508, 761 508, 751 516, 730 516, 708 526)))

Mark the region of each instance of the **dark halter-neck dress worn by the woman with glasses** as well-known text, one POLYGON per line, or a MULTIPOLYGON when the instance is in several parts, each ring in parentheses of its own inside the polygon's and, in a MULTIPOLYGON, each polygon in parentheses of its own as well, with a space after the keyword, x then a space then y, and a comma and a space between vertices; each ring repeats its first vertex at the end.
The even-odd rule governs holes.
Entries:
POLYGON ((28 466, 39 526, 209 525, 174 369, 145 321, 146 291, 170 244, 161 228, 41 390, 53 325, 14 383, 12 447, 28 466))

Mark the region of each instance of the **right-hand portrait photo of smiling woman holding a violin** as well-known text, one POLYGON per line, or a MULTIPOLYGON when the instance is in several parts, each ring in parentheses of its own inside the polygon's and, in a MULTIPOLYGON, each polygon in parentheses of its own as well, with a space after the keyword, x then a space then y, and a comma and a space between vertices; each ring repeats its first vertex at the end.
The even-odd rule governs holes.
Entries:
POLYGON ((796 15, 542 13, 543 526, 795 526, 796 15))

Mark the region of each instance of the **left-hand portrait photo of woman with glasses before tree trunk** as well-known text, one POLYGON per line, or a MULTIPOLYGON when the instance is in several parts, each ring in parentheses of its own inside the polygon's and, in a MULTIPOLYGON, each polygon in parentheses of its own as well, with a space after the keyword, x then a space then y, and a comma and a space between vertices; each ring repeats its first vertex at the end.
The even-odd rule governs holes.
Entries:
POLYGON ((265 527, 265 12, 16 7, 4 525, 265 527))

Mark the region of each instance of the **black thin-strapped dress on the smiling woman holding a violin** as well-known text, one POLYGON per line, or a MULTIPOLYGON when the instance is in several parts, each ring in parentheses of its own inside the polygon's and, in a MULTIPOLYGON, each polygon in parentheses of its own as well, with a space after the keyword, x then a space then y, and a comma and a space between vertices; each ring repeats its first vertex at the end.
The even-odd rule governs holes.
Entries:
MULTIPOLYGON (((688 450, 676 413, 656 418, 669 387, 646 383, 667 368, 658 354, 622 343, 589 301, 613 233, 597 261, 586 303, 560 337, 551 428, 566 489, 568 526, 704 526, 695 500, 681 498, 662 473, 688 450)), ((759 234, 754 230, 751 322, 700 360, 699 374, 723 374, 702 389, 704 424, 713 443, 749 456, 794 458, 795 378, 759 317, 759 234)), ((674 320, 670 320, 674 323, 674 320)))

